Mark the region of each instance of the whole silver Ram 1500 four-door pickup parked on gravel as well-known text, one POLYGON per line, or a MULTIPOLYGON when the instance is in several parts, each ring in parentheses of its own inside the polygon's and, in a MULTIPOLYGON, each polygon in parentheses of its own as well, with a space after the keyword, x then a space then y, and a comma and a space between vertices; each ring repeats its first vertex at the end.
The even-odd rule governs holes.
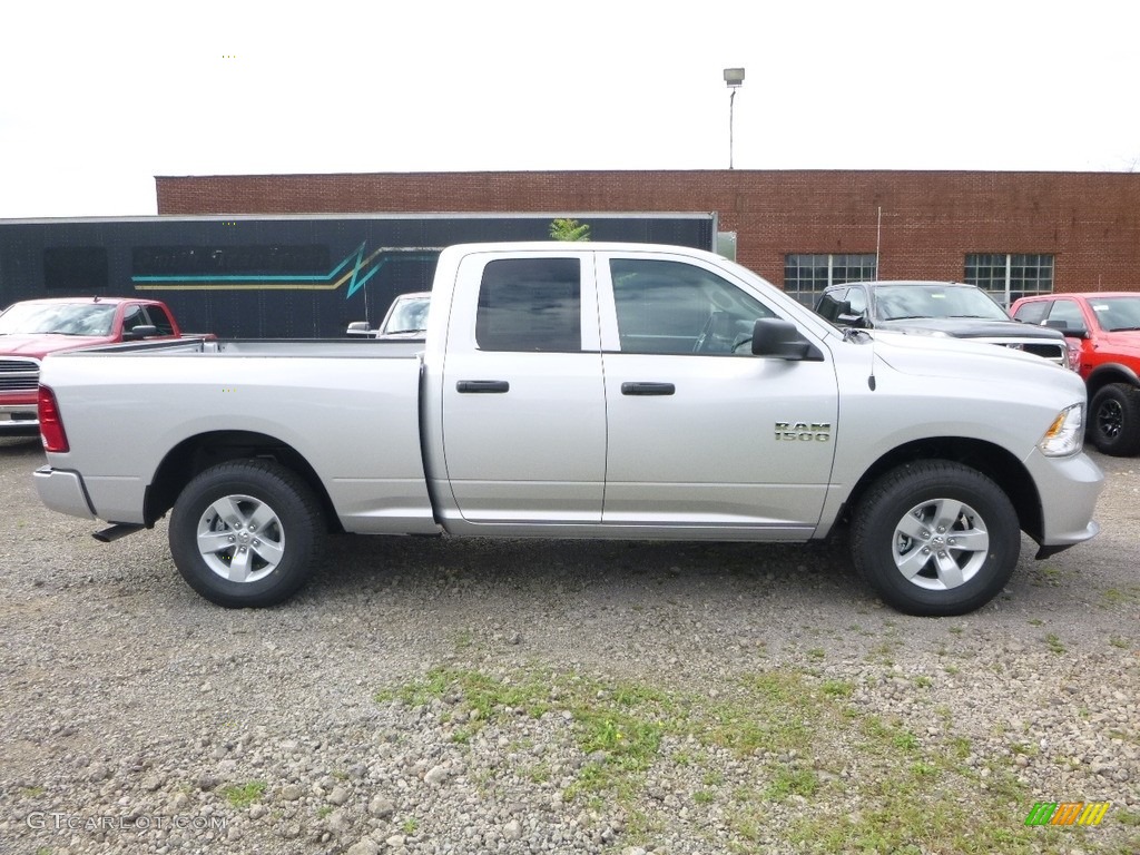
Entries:
MULTIPOLYGON (((278 603, 331 531, 806 542, 893 606, 959 614, 1092 537, 1073 372, 841 331, 743 267, 644 244, 443 251, 423 342, 138 343, 44 361, 57 511, 170 513, 225 606, 278 603)), ((763 561, 763 553, 758 553, 763 561)))

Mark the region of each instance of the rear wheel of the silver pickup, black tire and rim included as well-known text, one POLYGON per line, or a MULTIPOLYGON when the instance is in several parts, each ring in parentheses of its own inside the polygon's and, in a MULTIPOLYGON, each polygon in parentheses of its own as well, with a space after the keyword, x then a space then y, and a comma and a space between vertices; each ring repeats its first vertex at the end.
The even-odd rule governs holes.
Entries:
POLYGON ((179 495, 170 552, 206 600, 227 609, 275 605, 308 581, 325 530, 320 504, 295 472, 233 461, 199 473, 179 495))

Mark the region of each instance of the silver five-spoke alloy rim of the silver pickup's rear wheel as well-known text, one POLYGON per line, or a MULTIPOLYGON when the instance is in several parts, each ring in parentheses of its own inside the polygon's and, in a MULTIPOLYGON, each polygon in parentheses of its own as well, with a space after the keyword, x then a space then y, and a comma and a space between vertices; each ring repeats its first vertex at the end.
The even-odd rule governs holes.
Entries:
POLYGON ((280 563, 285 530, 276 512, 252 496, 223 496, 198 520, 197 547, 218 576, 258 581, 280 563))

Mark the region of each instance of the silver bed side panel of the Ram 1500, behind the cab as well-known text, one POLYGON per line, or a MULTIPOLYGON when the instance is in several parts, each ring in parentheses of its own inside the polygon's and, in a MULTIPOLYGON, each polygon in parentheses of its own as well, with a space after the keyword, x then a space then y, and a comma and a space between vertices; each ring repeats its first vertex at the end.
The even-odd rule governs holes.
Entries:
POLYGON ((66 467, 83 473, 100 519, 148 523, 145 497, 164 467, 186 465, 207 443, 271 440, 320 473, 345 530, 430 534, 438 529, 420 443, 422 347, 139 342, 54 356, 41 382, 67 413, 75 450, 66 467), (130 441, 115 442, 127 433, 130 441))

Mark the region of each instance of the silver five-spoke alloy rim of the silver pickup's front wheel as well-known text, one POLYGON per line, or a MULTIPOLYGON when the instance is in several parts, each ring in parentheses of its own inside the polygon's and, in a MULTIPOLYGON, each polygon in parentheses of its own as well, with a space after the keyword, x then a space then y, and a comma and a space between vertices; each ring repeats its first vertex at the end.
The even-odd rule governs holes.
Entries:
POLYGON ((895 526, 895 567, 913 585, 948 591, 964 585, 990 553, 985 520, 969 505, 939 498, 915 505, 895 526))

